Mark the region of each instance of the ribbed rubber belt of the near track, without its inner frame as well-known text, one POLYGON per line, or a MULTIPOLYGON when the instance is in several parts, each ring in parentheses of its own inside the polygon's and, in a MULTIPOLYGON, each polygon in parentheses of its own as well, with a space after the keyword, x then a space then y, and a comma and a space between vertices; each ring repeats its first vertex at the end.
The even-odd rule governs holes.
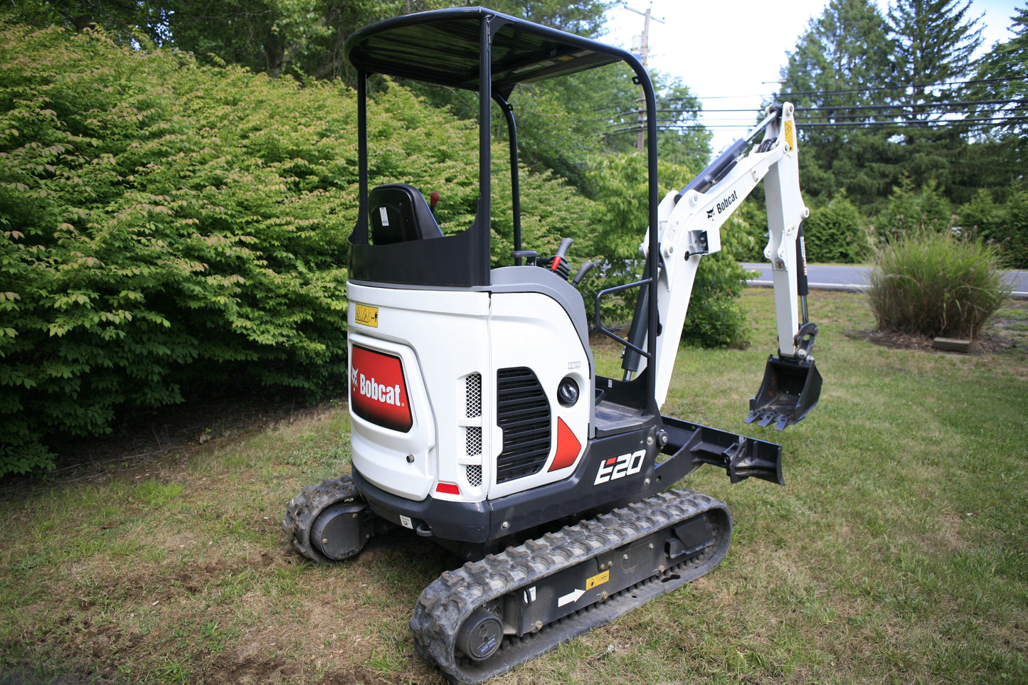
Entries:
POLYGON ((704 575, 725 557, 731 532, 732 519, 724 502, 689 490, 672 490, 500 554, 489 554, 481 562, 469 562, 456 571, 443 573, 421 592, 410 619, 415 649, 423 658, 436 663, 450 682, 483 683, 704 575), (551 574, 708 511, 715 514, 711 516, 714 544, 699 556, 537 633, 522 638, 507 636, 500 651, 486 661, 475 662, 457 653, 457 629, 477 607, 520 587, 544 583, 551 574))

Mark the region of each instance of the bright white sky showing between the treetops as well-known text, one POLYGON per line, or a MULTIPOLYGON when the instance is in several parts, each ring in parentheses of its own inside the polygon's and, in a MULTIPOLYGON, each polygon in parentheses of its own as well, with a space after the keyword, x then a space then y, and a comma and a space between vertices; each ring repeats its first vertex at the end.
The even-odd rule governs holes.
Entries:
MULTIPOLYGON (((625 4, 640 12, 651 7, 652 16, 663 20, 650 24, 649 66, 681 77, 701 99, 707 111, 702 121, 713 133, 717 152, 752 127, 751 112, 760 107, 762 96, 776 91, 786 52, 796 48, 797 39, 811 19, 823 13, 828 1, 628 0, 625 4), (747 111, 711 111, 733 109, 747 111)), ((888 0, 878 4, 884 14, 888 0)), ((1025 0, 971 0, 968 14, 984 14, 979 23, 984 28, 983 48, 1009 40, 1011 16, 1024 6, 1025 0)), ((642 15, 615 8, 608 16, 609 33, 601 40, 630 48, 632 36, 642 33, 642 15)))

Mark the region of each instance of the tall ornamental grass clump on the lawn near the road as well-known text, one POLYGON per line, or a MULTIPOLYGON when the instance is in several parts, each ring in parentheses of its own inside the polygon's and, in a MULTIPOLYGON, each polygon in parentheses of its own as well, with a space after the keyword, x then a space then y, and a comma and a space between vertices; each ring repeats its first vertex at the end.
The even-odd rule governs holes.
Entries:
POLYGON ((869 299, 878 329, 975 339, 1009 295, 992 245, 919 229, 879 246, 869 299))

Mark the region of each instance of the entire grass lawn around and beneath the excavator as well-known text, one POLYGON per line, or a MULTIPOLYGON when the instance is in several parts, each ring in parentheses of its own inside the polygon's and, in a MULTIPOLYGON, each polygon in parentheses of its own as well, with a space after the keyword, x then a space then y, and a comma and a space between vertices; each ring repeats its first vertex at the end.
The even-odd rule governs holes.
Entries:
MULTIPOLYGON (((750 347, 683 350, 664 413, 781 442, 786 486, 690 476, 732 511, 726 561, 494 682, 1028 682, 1025 304, 990 329, 1018 347, 961 356, 872 345, 861 295, 814 293, 824 390, 777 433, 741 423, 776 345, 771 291, 744 302, 750 347)), ((286 502, 348 469, 344 407, 209 437, 0 480, 0 684, 441 682, 408 620, 445 552, 286 545, 286 502)))

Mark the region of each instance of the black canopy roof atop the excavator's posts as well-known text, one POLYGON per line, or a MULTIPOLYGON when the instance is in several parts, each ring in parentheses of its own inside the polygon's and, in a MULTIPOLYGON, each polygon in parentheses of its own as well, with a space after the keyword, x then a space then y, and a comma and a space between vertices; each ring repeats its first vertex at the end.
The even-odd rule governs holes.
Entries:
POLYGON ((420 12, 372 24, 346 40, 346 57, 367 73, 478 91, 483 20, 492 32, 492 89, 505 97, 518 83, 635 60, 621 48, 484 7, 420 12))

